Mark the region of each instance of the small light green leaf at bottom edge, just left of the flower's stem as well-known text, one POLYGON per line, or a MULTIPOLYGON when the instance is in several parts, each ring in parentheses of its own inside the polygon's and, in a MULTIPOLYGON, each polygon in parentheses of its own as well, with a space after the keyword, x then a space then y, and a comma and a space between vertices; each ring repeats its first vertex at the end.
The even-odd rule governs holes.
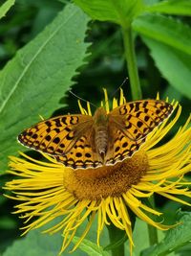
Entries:
MULTIPOLYGON (((77 244, 78 240, 79 238, 74 236, 73 243, 77 244)), ((97 246, 95 243, 90 242, 87 239, 83 239, 81 244, 79 244, 79 248, 90 256, 109 256, 110 255, 107 251, 104 251, 101 246, 97 246)))

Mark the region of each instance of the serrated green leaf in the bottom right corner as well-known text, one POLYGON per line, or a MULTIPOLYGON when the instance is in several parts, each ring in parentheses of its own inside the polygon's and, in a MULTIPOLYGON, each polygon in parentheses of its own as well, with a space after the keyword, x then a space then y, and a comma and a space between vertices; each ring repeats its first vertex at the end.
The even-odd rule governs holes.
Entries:
POLYGON ((167 255, 177 250, 180 246, 190 243, 191 240, 191 213, 182 212, 180 224, 166 232, 166 236, 159 244, 143 251, 141 256, 167 255))

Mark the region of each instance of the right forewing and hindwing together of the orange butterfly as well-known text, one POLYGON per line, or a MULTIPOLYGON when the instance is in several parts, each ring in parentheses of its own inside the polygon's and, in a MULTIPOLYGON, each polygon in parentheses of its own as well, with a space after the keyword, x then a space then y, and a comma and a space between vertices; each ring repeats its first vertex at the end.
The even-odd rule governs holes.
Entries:
POLYGON ((158 100, 142 100, 118 106, 109 113, 109 145, 106 165, 131 157, 146 136, 173 111, 173 106, 158 100))

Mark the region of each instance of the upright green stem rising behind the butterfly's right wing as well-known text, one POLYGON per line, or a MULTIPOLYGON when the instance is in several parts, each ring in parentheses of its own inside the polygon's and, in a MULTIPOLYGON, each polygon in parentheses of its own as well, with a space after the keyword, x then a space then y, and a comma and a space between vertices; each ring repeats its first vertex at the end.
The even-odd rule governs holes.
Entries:
POLYGON ((135 45, 131 27, 122 28, 125 58, 127 70, 130 78, 130 85, 133 100, 142 98, 140 84, 138 80, 138 65, 136 60, 135 45))

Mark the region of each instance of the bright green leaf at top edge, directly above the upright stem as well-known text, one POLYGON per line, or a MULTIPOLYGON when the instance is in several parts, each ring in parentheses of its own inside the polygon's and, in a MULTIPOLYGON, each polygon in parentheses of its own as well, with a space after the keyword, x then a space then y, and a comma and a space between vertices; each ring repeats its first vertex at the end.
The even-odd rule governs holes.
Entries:
POLYGON ((133 17, 143 12, 142 0, 74 0, 74 3, 93 19, 122 26, 129 26, 133 17))

